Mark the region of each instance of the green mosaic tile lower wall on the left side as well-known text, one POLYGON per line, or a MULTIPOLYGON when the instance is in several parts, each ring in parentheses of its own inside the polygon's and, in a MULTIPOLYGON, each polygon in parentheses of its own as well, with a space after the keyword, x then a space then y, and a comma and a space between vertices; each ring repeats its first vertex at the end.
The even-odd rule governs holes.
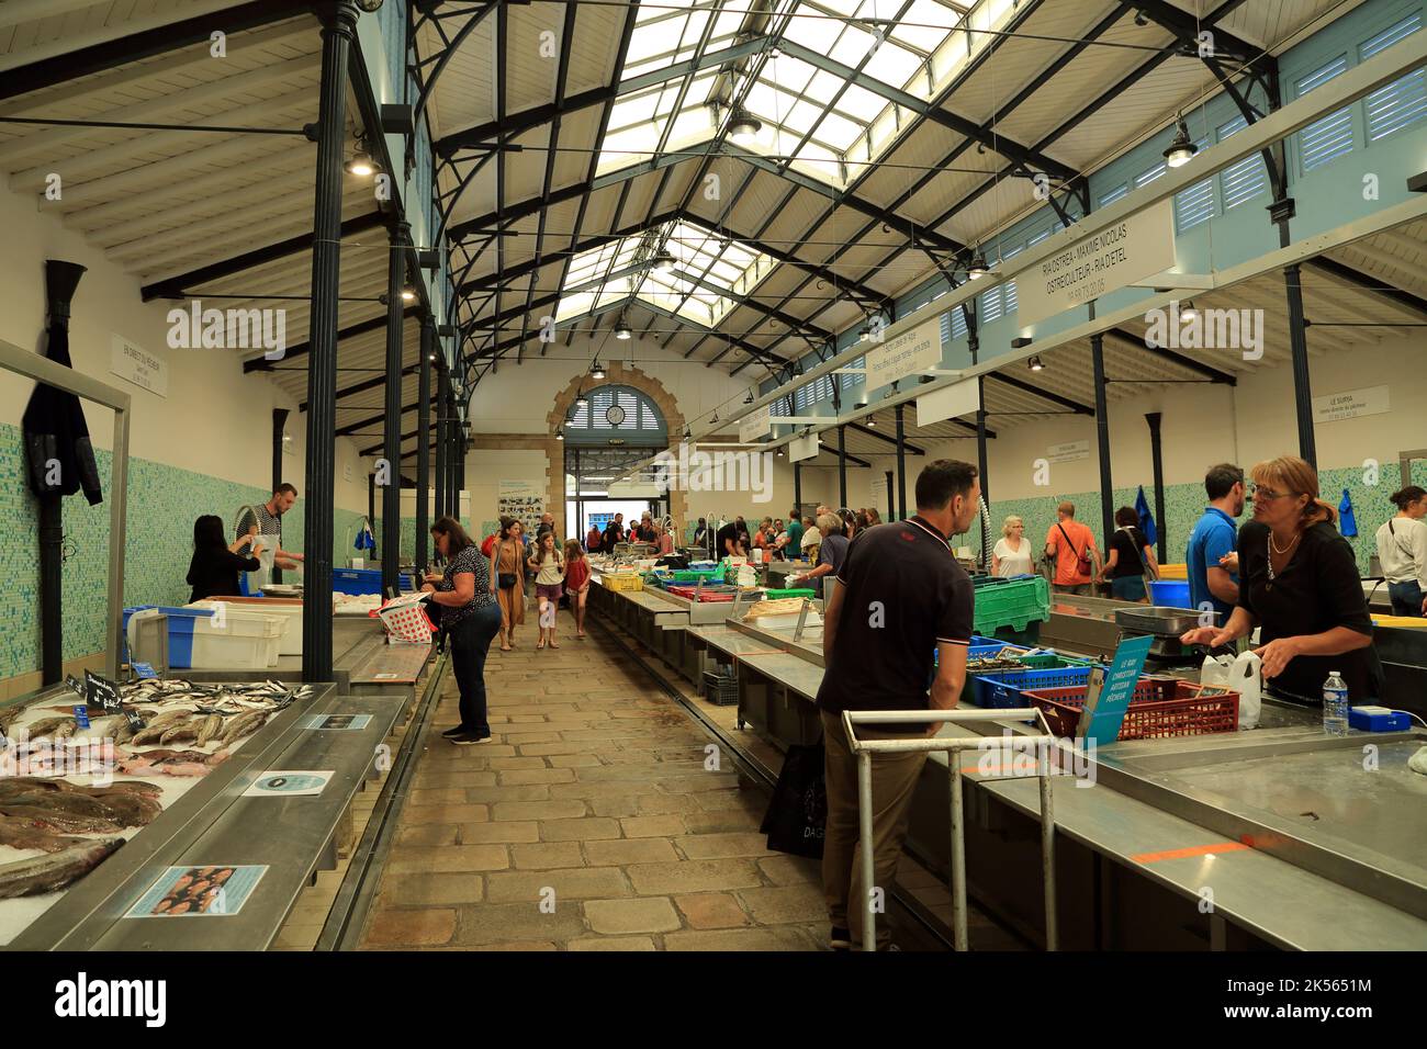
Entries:
MULTIPOLYGON (((0 424, 0 679, 40 668, 37 554, 39 505, 24 477, 19 427, 0 424)), ((111 455, 97 451, 98 474, 108 495, 111 455)), ((181 605, 188 601, 188 557, 193 522, 201 514, 230 520, 245 502, 271 492, 150 460, 128 462, 128 512, 124 549, 126 605, 181 605)), ((335 514, 334 552, 342 558, 344 534, 360 514, 335 514)), ((303 548, 303 501, 283 521, 284 545, 303 548)), ((108 502, 90 507, 83 495, 64 500, 64 658, 104 648, 104 595, 108 588, 108 502)), ((351 539, 347 539, 351 544, 351 539)))

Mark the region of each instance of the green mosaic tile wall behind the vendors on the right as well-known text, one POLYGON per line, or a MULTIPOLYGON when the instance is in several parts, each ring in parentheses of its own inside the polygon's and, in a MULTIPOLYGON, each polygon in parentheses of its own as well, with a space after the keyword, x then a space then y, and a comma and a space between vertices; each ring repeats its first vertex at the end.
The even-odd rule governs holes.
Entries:
MULTIPOLYGON (((1427 487, 1427 462, 1418 461, 1413 464, 1413 484, 1427 487)), ((1361 467, 1324 470, 1319 475, 1319 485, 1323 491, 1323 498, 1334 507, 1339 505, 1343 498, 1343 490, 1347 488, 1349 497, 1353 500, 1354 517, 1357 518, 1357 537, 1349 539, 1349 542, 1353 544, 1353 549, 1357 552, 1359 569, 1366 575, 1368 571, 1368 558, 1376 552, 1373 537, 1381 524, 1397 512, 1397 507, 1388 502, 1387 497, 1401 485, 1398 465, 1396 462, 1386 464, 1380 471, 1376 487, 1368 487, 1364 482, 1361 467)), ((1116 488, 1114 505, 1133 507, 1137 492, 1139 487, 1116 488)), ((1154 492, 1149 485, 1144 487, 1144 498, 1149 500, 1150 511, 1153 512, 1154 492)), ((1056 507, 1062 500, 1070 500, 1076 505, 1076 520, 1090 525, 1095 529, 1096 541, 1103 542, 1103 537, 1100 537, 1099 492, 1066 492, 1042 495, 1033 500, 995 500, 990 504, 993 541, 1000 538, 1000 525, 1006 520, 1006 515, 1019 514, 1026 522, 1026 537, 1036 544, 1035 549, 1040 549, 1046 532, 1056 521, 1056 507)), ((1164 488, 1164 517, 1169 521, 1166 559, 1169 562, 1177 564, 1184 561, 1189 534, 1194 529, 1194 522, 1204 512, 1206 505, 1207 500, 1204 498, 1204 487, 1202 484, 1174 484, 1164 488)), ((1244 515, 1239 518, 1240 524, 1249 521, 1250 517, 1251 508, 1246 508, 1244 515)), ((955 544, 975 548, 979 541, 980 532, 973 531, 970 535, 958 537, 955 544)))

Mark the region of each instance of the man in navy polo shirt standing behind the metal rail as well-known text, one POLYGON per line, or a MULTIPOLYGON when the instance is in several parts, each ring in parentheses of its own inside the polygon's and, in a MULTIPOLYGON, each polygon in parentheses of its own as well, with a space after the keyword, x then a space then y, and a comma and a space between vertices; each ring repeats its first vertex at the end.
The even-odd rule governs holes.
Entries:
MULTIPOLYGON (((869 891, 885 898, 896 878, 912 794, 926 752, 872 758, 875 886, 862 885, 858 856, 858 759, 848 745, 843 711, 919 711, 956 706, 966 681, 972 638, 972 582, 950 549, 950 537, 970 528, 980 482, 976 467, 938 460, 916 478, 916 515, 862 531, 838 569, 841 584, 823 611, 825 671, 818 689, 822 712, 828 829, 822 885, 832 923, 832 948, 860 942, 869 891), (936 678, 928 695, 932 654, 936 678)), ((935 735, 940 724, 880 729, 859 724, 859 738, 935 735)), ((886 923, 879 945, 890 942, 886 923)))

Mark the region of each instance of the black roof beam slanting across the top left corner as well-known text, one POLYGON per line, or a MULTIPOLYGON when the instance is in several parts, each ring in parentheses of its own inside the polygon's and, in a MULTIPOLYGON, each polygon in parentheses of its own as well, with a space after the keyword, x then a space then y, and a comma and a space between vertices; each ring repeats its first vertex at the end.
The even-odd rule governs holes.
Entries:
MULTIPOLYGON (((233 36, 244 30, 267 26, 284 19, 311 16, 311 0, 250 0, 245 4, 227 7, 191 19, 173 21, 167 26, 100 44, 81 47, 77 51, 57 54, 0 73, 0 101, 16 96, 43 91, 47 87, 67 84, 73 80, 104 73, 120 66, 151 59, 156 54, 176 51, 181 47, 203 43, 207 46, 214 33, 233 36)), ((314 21, 314 29, 317 23, 314 21)))

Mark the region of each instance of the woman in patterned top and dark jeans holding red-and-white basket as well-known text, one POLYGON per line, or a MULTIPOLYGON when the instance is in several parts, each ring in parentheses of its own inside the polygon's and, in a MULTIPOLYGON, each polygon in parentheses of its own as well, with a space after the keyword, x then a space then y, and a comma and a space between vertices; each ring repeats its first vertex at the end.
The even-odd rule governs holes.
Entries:
POLYGON ((441 631, 451 647, 451 667, 461 689, 461 724, 441 735, 457 746, 485 744, 491 739, 485 712, 485 654, 501 631, 495 582, 481 549, 459 521, 442 517, 431 525, 431 537, 437 554, 445 558, 445 571, 428 574, 421 589, 441 605, 441 631))

